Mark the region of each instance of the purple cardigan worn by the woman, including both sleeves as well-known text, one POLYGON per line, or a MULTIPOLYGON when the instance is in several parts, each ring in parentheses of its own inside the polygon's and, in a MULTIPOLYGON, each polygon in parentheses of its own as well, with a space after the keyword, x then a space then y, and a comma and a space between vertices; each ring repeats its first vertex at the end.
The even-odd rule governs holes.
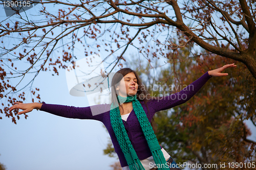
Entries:
MULTIPOLYGON (((148 120, 151 122, 154 114, 160 110, 170 109, 172 107, 178 106, 180 104, 188 101, 193 95, 195 95, 200 88, 211 78, 209 76, 208 71, 197 79, 195 82, 191 83, 189 86, 172 95, 164 96, 163 99, 151 99, 147 102, 148 110, 146 105, 143 102, 140 102, 148 120)), ((112 129, 110 122, 110 104, 101 104, 91 106, 92 109, 98 109, 103 113, 98 115, 92 115, 91 108, 89 107, 74 107, 74 106, 64 106, 64 105, 54 105, 54 104, 46 104, 43 102, 40 110, 46 111, 58 116, 68 117, 68 118, 79 118, 79 119, 94 119, 102 122, 106 129, 108 130, 112 143, 115 148, 115 152, 118 155, 120 164, 122 167, 127 166, 127 162, 122 153, 122 150, 118 144, 115 133, 112 129)), ((123 120, 124 127, 126 132, 131 140, 134 150, 136 151, 138 158, 140 160, 146 159, 152 156, 150 148, 148 147, 146 138, 142 132, 139 121, 135 115, 134 110, 132 110, 131 114, 127 118, 126 121, 123 120)), ((162 148, 162 147, 161 147, 162 148)))

